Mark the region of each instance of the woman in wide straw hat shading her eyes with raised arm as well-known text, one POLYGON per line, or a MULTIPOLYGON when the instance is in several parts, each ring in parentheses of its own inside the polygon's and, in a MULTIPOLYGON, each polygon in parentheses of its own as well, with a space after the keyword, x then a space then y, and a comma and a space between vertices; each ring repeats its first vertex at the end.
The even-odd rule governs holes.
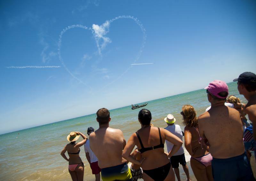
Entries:
POLYGON ((87 141, 86 136, 80 132, 71 132, 68 137, 69 144, 67 144, 61 151, 61 156, 68 161, 68 171, 71 175, 72 180, 83 180, 84 179, 84 163, 79 157, 79 152, 81 146, 87 141), (76 144, 76 140, 82 136, 83 141, 76 144), (69 159, 66 157, 65 153, 68 151, 69 159))

